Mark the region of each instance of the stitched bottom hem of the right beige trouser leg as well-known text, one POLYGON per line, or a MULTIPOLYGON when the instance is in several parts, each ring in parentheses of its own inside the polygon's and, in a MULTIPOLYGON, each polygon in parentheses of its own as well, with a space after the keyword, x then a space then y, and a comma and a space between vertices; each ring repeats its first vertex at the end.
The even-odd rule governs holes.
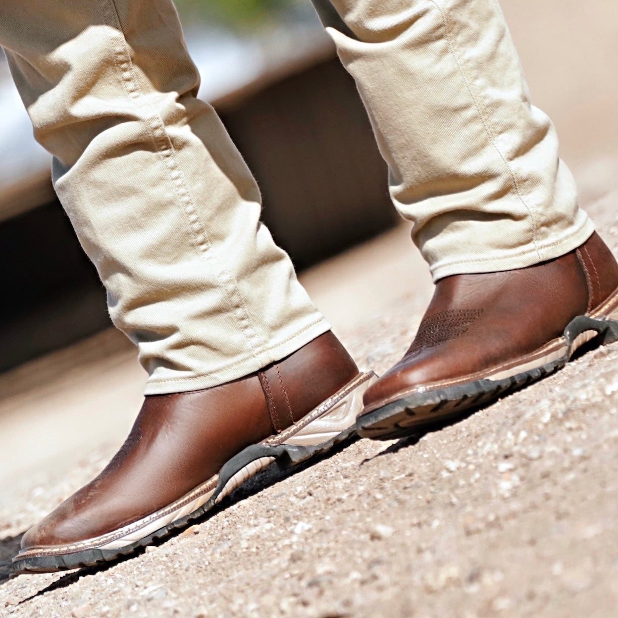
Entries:
POLYGON ((499 271, 526 268, 547 260, 554 260, 573 251, 586 242, 595 231, 595 225, 586 216, 582 226, 570 229, 560 237, 550 236, 547 242, 537 241, 527 248, 518 248, 516 253, 483 258, 441 263, 431 268, 434 282, 454 274, 497 273, 499 271))

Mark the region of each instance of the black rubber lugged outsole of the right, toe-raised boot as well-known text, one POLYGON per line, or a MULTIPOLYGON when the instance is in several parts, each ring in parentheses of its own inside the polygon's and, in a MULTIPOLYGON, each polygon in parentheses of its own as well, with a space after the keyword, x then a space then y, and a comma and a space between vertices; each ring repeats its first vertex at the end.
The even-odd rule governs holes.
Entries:
POLYGON ((392 440, 464 418, 564 367, 577 350, 577 338, 587 331, 596 332, 590 342, 597 345, 618 341, 618 321, 578 316, 564 329, 567 351, 561 358, 504 379, 481 379, 402 397, 359 417, 357 433, 362 438, 392 440))

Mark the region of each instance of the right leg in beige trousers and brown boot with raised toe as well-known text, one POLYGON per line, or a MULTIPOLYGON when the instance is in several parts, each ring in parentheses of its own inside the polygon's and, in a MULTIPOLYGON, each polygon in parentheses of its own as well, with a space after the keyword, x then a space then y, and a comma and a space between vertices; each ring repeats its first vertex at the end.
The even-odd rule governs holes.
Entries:
POLYGON ((497 1, 315 3, 436 281, 415 341, 368 389, 360 433, 456 417, 551 373, 586 338, 618 336, 615 260, 530 104, 497 1))

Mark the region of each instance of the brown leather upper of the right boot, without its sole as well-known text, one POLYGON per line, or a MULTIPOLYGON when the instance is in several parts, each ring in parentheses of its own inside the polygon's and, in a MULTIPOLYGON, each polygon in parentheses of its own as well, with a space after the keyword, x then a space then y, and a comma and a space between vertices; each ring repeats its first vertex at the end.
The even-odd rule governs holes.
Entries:
POLYGON ((402 360, 365 392, 363 413, 410 389, 489 374, 535 352, 617 287, 618 265, 596 233, 556 260, 445 277, 402 360))

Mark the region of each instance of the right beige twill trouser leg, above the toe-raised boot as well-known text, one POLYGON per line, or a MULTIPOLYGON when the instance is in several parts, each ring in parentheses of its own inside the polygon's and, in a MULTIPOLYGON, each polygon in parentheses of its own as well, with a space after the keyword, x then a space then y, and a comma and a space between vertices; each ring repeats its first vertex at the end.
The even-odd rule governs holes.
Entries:
POLYGON ((327 1, 314 4, 434 279, 523 268, 590 237, 496 0, 327 1))

